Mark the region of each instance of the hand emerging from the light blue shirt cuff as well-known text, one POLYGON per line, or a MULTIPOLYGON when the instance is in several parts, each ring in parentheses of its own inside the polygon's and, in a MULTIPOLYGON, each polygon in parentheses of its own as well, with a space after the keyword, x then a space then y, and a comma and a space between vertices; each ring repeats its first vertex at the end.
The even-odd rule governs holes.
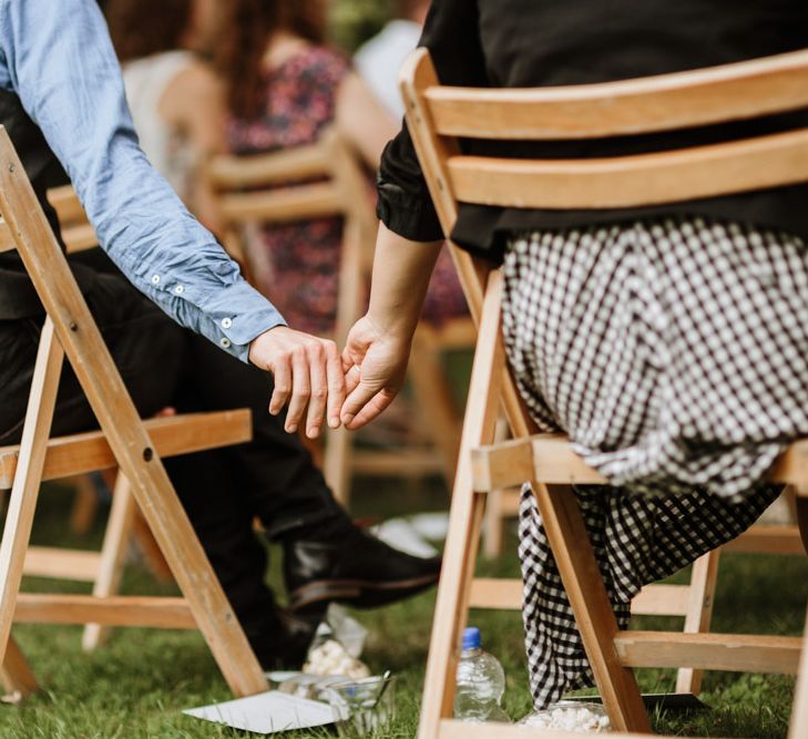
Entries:
POLYGON ((269 412, 277 415, 288 401, 286 431, 297 431, 305 413, 306 435, 316 439, 326 411, 328 425, 339 427, 345 376, 334 341, 276 326, 253 340, 249 361, 275 378, 269 412))

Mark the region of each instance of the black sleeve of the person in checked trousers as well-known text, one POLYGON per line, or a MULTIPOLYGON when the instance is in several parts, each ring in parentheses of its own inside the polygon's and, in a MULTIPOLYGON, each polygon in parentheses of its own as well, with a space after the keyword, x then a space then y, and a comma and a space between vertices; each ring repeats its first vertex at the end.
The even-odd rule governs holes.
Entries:
MULTIPOLYGON (((475 0, 433 0, 418 44, 432 57, 441 84, 488 86, 475 0)), ((407 124, 385 147, 376 213, 392 232, 413 242, 443 238, 407 124)))

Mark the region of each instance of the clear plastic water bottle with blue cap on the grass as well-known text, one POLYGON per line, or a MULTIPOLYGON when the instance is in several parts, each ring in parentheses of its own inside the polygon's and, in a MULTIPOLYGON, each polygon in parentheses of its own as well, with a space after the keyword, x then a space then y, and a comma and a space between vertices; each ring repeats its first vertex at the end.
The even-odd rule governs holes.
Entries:
POLYGON ((462 721, 510 722, 500 707, 505 691, 505 673, 499 660, 483 651, 479 628, 463 632, 454 692, 454 718, 462 721))

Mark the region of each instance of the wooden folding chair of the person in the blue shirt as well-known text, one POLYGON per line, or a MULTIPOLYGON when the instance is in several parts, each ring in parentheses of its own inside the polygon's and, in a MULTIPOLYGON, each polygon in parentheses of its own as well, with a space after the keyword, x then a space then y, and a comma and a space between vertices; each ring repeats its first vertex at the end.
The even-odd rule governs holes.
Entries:
POLYGON ((161 454, 247 440, 248 411, 141 421, 4 129, 0 216, 0 250, 17 249, 47 314, 22 440, 0 453, 0 486, 11 486, 0 542, 0 665, 7 688, 25 694, 37 686, 10 636, 18 620, 198 628, 234 694, 266 690, 260 665, 160 461, 161 454), (50 439, 65 355, 101 431, 50 439), (184 597, 20 595, 41 481, 116 465, 184 597))

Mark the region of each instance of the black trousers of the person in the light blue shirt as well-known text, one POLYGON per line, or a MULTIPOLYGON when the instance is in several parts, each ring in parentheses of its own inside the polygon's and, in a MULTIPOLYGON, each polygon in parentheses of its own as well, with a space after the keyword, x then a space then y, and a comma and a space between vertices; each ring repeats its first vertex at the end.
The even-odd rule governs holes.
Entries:
MULTIPOLYGON (((247 636, 254 644, 269 638, 277 620, 253 519, 277 538, 345 514, 297 437, 267 412, 268 376, 181 328, 114 267, 104 269, 85 297, 142 417, 167 406, 253 411, 252 442, 167 459, 165 466, 247 636)), ((19 442, 41 324, 0 321, 0 444, 19 442)), ((65 362, 53 434, 93 428, 98 422, 65 362)))

